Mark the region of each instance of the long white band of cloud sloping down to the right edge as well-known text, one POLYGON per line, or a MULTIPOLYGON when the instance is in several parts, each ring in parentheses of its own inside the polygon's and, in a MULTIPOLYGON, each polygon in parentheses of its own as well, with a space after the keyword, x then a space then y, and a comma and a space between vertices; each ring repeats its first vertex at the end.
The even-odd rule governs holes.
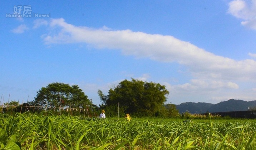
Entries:
POLYGON ((54 32, 43 36, 45 44, 86 43, 98 49, 121 50, 125 55, 178 62, 187 66, 194 77, 201 79, 255 80, 256 61, 236 61, 218 56, 173 36, 92 29, 68 24, 64 19, 51 19, 49 25, 54 32))

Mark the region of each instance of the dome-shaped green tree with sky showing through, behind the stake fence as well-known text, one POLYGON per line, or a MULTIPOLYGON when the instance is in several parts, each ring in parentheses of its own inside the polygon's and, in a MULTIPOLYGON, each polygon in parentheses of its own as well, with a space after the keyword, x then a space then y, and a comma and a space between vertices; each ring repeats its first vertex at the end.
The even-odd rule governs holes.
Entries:
POLYGON ((92 101, 78 85, 54 82, 42 87, 33 101, 33 105, 42 107, 87 108, 93 106, 92 101))

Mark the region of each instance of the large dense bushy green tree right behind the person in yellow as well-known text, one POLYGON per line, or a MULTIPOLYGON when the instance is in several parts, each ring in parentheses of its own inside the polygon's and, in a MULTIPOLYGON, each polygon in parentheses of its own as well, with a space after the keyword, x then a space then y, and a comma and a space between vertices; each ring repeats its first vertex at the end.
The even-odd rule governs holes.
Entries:
POLYGON ((169 91, 164 85, 133 79, 123 80, 108 95, 98 91, 102 103, 106 106, 119 104, 125 112, 139 116, 154 116, 166 102, 169 91))

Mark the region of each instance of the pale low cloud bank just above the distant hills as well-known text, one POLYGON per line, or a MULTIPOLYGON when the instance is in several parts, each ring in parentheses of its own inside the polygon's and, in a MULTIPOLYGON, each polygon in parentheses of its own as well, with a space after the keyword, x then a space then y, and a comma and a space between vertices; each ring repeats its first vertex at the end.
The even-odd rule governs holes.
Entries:
POLYGON ((168 102, 173 104, 181 104, 188 101, 216 104, 229 99, 256 100, 256 94, 253 92, 256 89, 237 89, 238 85, 232 82, 191 80, 189 83, 182 85, 171 85, 168 82, 163 84, 170 91, 168 102))

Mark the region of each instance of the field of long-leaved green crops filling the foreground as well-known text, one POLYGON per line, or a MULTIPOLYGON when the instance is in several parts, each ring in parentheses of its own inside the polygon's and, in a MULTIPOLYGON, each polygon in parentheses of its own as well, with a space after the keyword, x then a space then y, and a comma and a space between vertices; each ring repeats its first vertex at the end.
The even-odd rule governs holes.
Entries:
POLYGON ((0 115, 1 149, 256 149, 255 120, 0 115))

